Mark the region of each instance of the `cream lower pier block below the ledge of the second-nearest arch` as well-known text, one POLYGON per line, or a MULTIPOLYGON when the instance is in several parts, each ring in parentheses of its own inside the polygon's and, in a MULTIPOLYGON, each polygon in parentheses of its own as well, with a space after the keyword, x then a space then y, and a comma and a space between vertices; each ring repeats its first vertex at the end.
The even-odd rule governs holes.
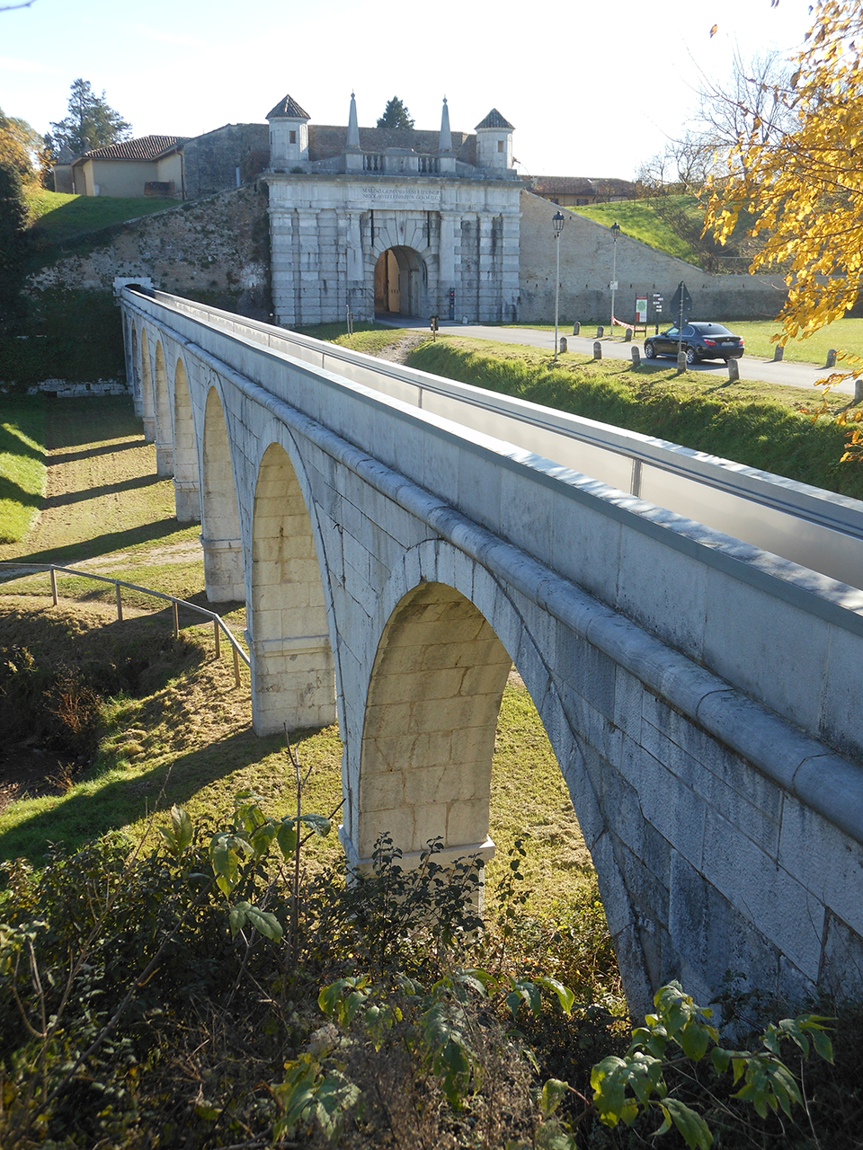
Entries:
POLYGON ((258 735, 329 727, 336 721, 336 669, 328 635, 254 639, 252 726, 258 735))

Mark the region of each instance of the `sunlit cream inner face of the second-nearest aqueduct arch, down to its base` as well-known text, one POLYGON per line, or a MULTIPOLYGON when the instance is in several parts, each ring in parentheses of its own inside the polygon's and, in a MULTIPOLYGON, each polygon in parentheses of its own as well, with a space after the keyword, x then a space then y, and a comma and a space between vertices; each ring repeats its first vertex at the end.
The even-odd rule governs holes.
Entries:
MULTIPOLYGON (((266 442, 266 440, 265 440, 266 442)), ((261 459, 252 520, 252 721, 258 734, 336 719, 336 678, 316 532, 288 452, 261 459)))

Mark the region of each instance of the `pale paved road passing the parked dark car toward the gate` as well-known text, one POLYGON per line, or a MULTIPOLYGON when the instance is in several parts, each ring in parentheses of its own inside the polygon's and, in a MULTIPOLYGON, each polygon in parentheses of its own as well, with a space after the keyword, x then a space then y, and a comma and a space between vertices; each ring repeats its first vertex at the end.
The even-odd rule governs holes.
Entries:
MULTIPOLYGON (((391 322, 394 328, 415 328, 417 330, 428 331, 428 324, 422 323, 419 320, 399 320, 398 322, 384 321, 380 316, 376 317, 377 323, 391 322)), ((487 328, 479 323, 451 323, 449 321, 441 322, 441 331, 445 331, 448 336, 473 336, 476 339, 496 339, 502 343, 507 344, 524 344, 527 347, 547 347, 549 351, 553 350, 555 346, 555 334, 553 331, 541 331, 537 328, 487 328)), ((593 355, 594 353, 594 338, 589 336, 572 336, 568 334, 566 328, 560 329, 560 335, 566 336, 568 339, 568 347, 571 352, 579 352, 582 355, 593 355)), ((605 338, 601 340, 602 343, 602 354, 605 359, 625 359, 628 360, 632 356, 633 344, 625 344, 623 339, 610 339, 605 338)), ((644 354, 643 344, 636 344, 639 351, 644 354)), ((671 358, 664 358, 656 360, 657 363, 669 363, 673 366, 674 360, 671 358)), ((755 359, 751 355, 744 355, 741 360, 738 360, 740 367, 740 377, 742 379, 761 379, 764 383, 778 383, 787 388, 804 388, 810 389, 816 379, 824 378, 827 375, 827 369, 824 366, 817 367, 811 363, 773 363, 772 360, 761 360, 755 359)), ((689 368, 692 371, 704 371, 708 374, 725 377, 727 375, 727 367, 721 361, 707 360, 704 363, 697 363, 695 367, 689 368)), ((847 381, 841 383, 835 388, 838 392, 846 392, 849 396, 854 394, 854 382, 847 381)))

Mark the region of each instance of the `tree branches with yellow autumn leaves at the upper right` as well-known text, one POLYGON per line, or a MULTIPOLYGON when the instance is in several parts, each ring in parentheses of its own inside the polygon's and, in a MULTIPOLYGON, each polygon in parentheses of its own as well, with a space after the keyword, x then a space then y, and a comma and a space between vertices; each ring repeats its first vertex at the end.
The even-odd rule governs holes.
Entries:
MULTIPOLYGON (((761 240, 753 270, 787 275, 776 337, 781 344, 845 315, 863 288, 863 7, 860 0, 818 0, 814 17, 788 83, 770 93, 791 121, 765 125, 756 99, 763 82, 753 79, 753 99, 738 108, 742 123, 727 172, 709 187, 707 227, 721 241, 741 212, 753 213, 751 235, 761 240)), ((851 361, 846 356, 849 367, 851 361)), ((837 373, 826 386, 858 370, 837 373)), ((849 406, 860 402, 858 385, 849 406)), ((860 409, 840 415, 856 423, 862 417, 860 409)), ((845 458, 863 458, 860 428, 845 458)))

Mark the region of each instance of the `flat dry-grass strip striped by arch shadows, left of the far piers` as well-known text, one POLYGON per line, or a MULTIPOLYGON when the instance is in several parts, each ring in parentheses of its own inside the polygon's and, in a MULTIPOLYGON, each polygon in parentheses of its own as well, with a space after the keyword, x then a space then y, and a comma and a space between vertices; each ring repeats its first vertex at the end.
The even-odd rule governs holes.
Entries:
POLYGON ((125 398, 58 399, 48 408, 45 505, 0 560, 75 564, 178 530, 170 480, 125 398))

